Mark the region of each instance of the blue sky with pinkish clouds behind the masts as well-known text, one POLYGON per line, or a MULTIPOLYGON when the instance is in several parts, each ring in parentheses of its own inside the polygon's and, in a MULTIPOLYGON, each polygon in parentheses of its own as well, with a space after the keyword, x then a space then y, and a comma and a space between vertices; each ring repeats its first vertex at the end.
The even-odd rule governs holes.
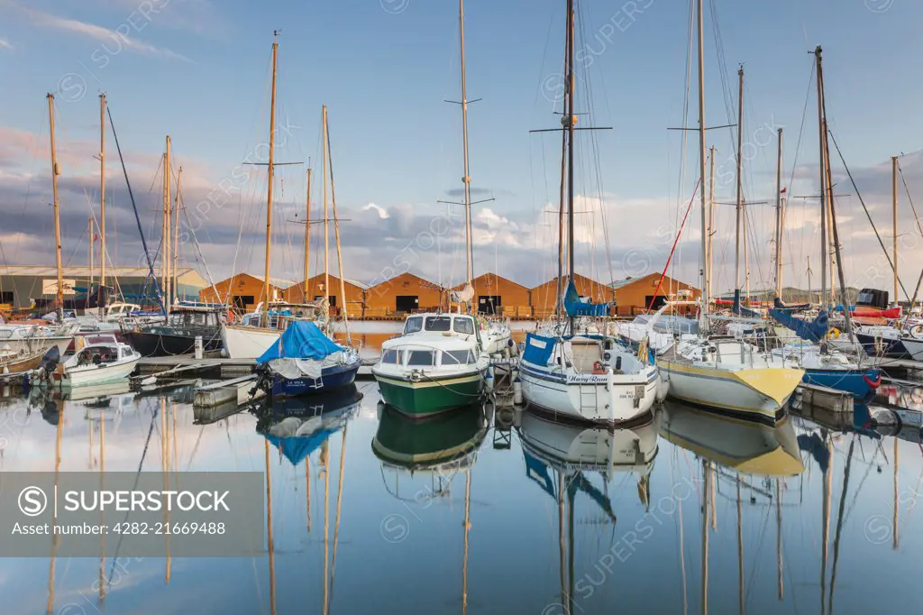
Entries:
MULTIPOLYGON (((717 126, 728 121, 710 4, 706 122, 717 126)), ((833 134, 876 223, 887 224, 890 234, 889 157, 920 149, 917 102, 923 85, 913 76, 920 74, 923 57, 916 32, 923 6, 909 0, 848 0, 833 10, 820 0, 756 6, 715 0, 713 5, 725 83, 735 94, 737 65, 744 64, 747 72, 744 135, 756 144, 745 170, 747 198, 774 199, 775 142, 766 139, 769 127, 773 132, 785 127, 785 175, 795 179, 791 192, 817 190, 813 97, 799 150, 796 145, 809 85, 809 51, 820 43, 833 134)), ((686 175, 677 190, 681 135, 666 130, 683 123, 689 4, 579 0, 578 6, 582 61, 577 104, 581 112, 591 113, 581 116, 581 124, 613 127, 595 133, 594 143, 589 133, 581 134, 577 193, 578 207, 584 209, 578 211, 595 211, 581 214, 581 268, 601 279, 610 275, 598 213, 602 207, 612 277, 659 271, 669 251, 664 237, 672 239, 679 203, 685 211, 698 176, 697 149, 689 147, 686 175), (664 227, 664 221, 670 223, 664 227)), ((461 187, 460 114, 456 105, 443 102, 460 95, 457 3, 0 0, 0 10, 5 16, 0 72, 6 83, 0 107, 0 130, 6 134, 0 145, 0 209, 6 220, 19 221, 10 224, 17 234, 9 233, 6 224, 0 232, 6 262, 54 262, 42 239, 51 228, 50 216, 36 209, 48 200, 43 195, 50 184, 45 92, 57 92, 62 181, 72 180, 64 182, 62 194, 70 216, 66 252, 86 259, 86 244, 79 247, 79 242, 85 241, 81 233, 89 203, 98 201, 98 166, 92 156, 98 147, 101 90, 109 96, 136 197, 148 201, 142 217, 149 240, 156 242, 153 208, 159 197, 148 188, 157 185, 164 136, 174 140, 175 163, 186 172, 186 206, 192 208, 266 139, 272 30, 282 29, 279 118, 293 128, 277 161, 318 160, 320 107, 327 104, 337 202, 342 217, 350 218, 342 229, 347 276, 367 281, 406 267, 444 282, 460 279, 457 234, 443 237, 432 248, 435 255, 429 254, 428 239, 421 241, 419 235, 444 211, 436 201, 457 199, 449 191, 461 187), (372 203, 375 208, 368 207, 372 203), (409 242, 413 256, 398 265, 394 255, 408 254, 409 242)), ((556 207, 548 203, 557 201, 559 140, 529 130, 557 125, 552 111, 562 63, 564 1, 469 0, 465 11, 468 96, 484 99, 471 105, 471 175, 478 199, 496 198, 475 211, 475 269, 498 269, 526 285, 537 284, 554 269, 554 216, 547 211, 556 207)), ((691 94, 689 126, 696 121, 694 84, 691 94)), ((689 133, 691 144, 695 137, 689 133)), ((732 200, 731 133, 715 130, 709 137, 719 150, 719 174, 732 178, 719 184, 718 199, 732 200)), ((107 176, 116 199, 110 228, 117 224, 121 249, 116 258, 110 246, 110 256, 121 264, 126 254, 138 254, 137 231, 128 232, 133 220, 124 180, 115 175, 114 143, 111 135, 107 139, 107 176)), ((833 163, 834 175, 842 175, 838 159, 833 163)), ((902 168, 911 194, 923 187, 917 155, 903 159, 902 168)), ((297 228, 284 220, 303 208, 303 174, 303 167, 282 168, 276 185, 281 217, 273 275, 292 281, 301 279, 303 244, 298 244, 297 228)), ((845 178, 834 181, 845 187, 843 192, 854 192, 845 178)), ((220 211, 210 211, 198 233, 216 277, 232 269, 262 270, 258 229, 265 225, 260 222, 265 175, 252 175, 240 188, 220 211)), ((319 200, 319 186, 314 193, 319 200)), ((797 208, 790 218, 794 226, 786 232, 791 270, 786 283, 805 285, 801 263, 820 248, 815 248, 816 223, 809 210, 797 208)), ((911 254, 919 235, 912 233, 907 209, 902 208, 902 228, 914 235, 905 237, 914 243, 903 250, 908 259, 904 269, 915 271, 906 274, 912 287, 923 260, 911 254)), ((719 215, 722 262, 733 253, 731 213, 719 215)), ((857 199, 840 201, 838 215, 850 239, 844 242, 847 276, 861 277, 865 263, 881 250, 857 199)), ((753 208, 754 286, 760 285, 757 278, 767 278, 771 221, 770 208, 753 208)), ((698 270, 698 216, 691 222, 675 271, 689 280, 698 270)), ((185 249, 184 257, 196 264, 192 250, 185 249)), ((134 264, 128 260, 125 264, 134 264)), ((732 284, 729 269, 721 271, 719 287, 727 287, 732 284)))

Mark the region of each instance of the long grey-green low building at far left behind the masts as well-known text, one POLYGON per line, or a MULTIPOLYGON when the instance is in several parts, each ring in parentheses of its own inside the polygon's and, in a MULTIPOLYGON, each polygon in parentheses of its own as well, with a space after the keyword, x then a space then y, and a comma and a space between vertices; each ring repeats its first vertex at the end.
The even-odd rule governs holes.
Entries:
MULTIPOLYGON (((100 285, 99 268, 74 266, 64 268, 65 305, 82 306, 87 295, 95 297, 100 285)), ((155 271, 155 274, 159 271, 155 271)), ((181 300, 195 301, 208 283, 191 267, 177 271, 176 295, 181 300)), ((158 277, 157 283, 160 283, 158 277)), ((106 267, 106 283, 110 300, 152 306, 157 302, 156 286, 147 267, 106 267)), ((13 309, 28 309, 54 301, 57 291, 57 269, 45 265, 0 266, 0 304, 13 309)), ((92 305, 95 305, 93 303, 92 305)))

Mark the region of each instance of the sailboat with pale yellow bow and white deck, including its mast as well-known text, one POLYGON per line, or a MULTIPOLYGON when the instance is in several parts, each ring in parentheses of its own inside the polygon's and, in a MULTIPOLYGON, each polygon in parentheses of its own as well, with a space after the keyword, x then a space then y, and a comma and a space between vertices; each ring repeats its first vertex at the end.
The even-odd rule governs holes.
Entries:
MULTIPOLYGON (((711 336, 709 320, 709 283, 711 265, 708 254, 707 203, 705 198, 705 92, 702 41, 702 0, 697 2, 699 38, 699 156, 702 181, 701 255, 702 297, 701 323, 697 334, 683 335, 677 344, 657 358, 661 378, 669 383, 670 397, 712 408, 715 412, 770 425, 785 415, 785 404, 804 376, 799 368, 780 367, 772 357, 753 344, 733 337, 711 336)), ((685 302, 689 305, 688 302, 685 302)), ((684 302, 667 302, 648 322, 653 332, 665 309, 684 302)))

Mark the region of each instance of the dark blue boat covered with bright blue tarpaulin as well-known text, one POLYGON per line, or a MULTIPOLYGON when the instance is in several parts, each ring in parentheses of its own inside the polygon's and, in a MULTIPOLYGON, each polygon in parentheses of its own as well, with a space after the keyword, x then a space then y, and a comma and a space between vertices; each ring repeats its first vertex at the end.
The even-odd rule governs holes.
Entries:
POLYGON ((309 320, 294 320, 257 358, 257 387, 271 398, 312 395, 352 384, 362 361, 309 320))

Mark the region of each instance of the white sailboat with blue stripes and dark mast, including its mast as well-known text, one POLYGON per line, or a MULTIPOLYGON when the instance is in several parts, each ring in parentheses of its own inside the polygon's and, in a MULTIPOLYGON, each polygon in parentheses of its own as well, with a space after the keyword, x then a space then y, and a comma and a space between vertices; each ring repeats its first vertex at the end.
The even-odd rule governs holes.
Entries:
MULTIPOLYGON (((599 335, 594 319, 609 304, 581 301, 574 284, 574 2, 568 2, 567 75, 564 116, 566 164, 562 158, 561 208, 568 211, 568 285, 558 292, 557 325, 543 335, 528 333, 520 361, 522 395, 529 409, 563 420, 618 424, 645 420, 657 398, 658 369, 646 350, 638 355, 619 339, 599 335), (568 187, 564 202, 564 183, 568 187), (566 319, 564 317, 567 317, 566 319)), ((562 156, 564 152, 562 151, 562 156)), ((558 281, 563 280, 565 231, 560 226, 558 281)))

